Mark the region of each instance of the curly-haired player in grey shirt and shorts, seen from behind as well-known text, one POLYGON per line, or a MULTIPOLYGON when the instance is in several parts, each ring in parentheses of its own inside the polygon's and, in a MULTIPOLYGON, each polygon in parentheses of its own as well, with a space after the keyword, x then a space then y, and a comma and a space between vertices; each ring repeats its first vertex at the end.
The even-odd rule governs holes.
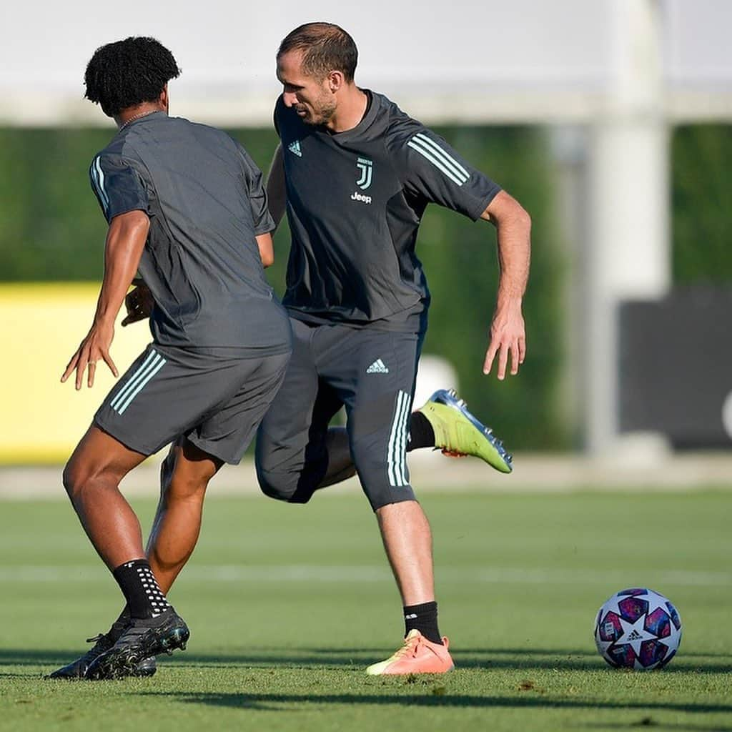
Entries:
POLYGON ((171 52, 142 37, 102 46, 86 67, 86 97, 119 130, 91 163, 109 224, 104 278, 89 334, 61 381, 75 373, 77 389, 85 380, 93 386, 100 360, 117 376, 114 321, 135 272, 154 301, 153 342, 105 398, 64 469, 83 529, 127 606, 54 678, 146 675, 155 654, 185 648, 189 630, 165 597, 165 567, 193 550, 206 485, 223 463, 241 460, 291 351, 287 315, 264 277, 275 227, 261 172, 224 132, 168 116, 168 81, 178 75, 171 52), (171 441, 171 500, 157 516, 148 561, 119 482, 171 441))

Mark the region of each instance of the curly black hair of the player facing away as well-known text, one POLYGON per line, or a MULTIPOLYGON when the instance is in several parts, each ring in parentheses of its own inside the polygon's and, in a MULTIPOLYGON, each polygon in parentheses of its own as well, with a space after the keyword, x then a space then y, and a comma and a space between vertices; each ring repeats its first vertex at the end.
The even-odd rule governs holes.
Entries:
POLYGON ((130 37, 94 51, 86 65, 84 96, 109 116, 154 102, 181 70, 173 54, 154 38, 130 37))

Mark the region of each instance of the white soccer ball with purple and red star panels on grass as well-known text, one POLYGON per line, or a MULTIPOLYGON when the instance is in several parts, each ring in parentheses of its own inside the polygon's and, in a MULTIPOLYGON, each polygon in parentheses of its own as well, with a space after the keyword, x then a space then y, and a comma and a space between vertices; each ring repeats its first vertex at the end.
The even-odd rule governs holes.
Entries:
POLYGON ((679 649, 681 618, 662 594, 641 588, 621 590, 597 613, 595 643, 616 668, 661 668, 679 649))

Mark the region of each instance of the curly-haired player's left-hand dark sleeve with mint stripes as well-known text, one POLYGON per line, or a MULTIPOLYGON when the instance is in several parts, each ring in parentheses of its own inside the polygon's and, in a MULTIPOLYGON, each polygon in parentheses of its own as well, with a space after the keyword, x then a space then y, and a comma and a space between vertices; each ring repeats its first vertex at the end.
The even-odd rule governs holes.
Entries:
POLYGON ((145 183, 138 171, 123 157, 98 154, 91 161, 89 178, 107 223, 128 211, 149 211, 145 183))

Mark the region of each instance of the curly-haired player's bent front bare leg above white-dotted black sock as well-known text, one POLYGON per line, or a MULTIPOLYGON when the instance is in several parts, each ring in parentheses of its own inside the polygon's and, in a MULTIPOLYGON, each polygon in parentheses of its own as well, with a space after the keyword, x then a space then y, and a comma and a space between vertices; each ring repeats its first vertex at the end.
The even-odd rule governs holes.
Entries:
POLYGON ((140 522, 119 491, 145 457, 92 426, 64 468, 64 488, 81 526, 110 570, 145 556, 140 522))

